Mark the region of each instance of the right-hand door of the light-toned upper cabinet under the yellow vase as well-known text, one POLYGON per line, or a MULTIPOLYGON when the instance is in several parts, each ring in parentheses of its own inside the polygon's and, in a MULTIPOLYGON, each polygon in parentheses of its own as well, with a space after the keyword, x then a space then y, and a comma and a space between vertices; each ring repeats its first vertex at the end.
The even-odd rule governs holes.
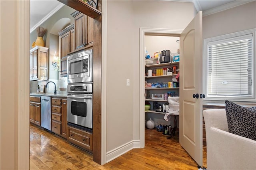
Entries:
POLYGON ((38 79, 48 80, 48 49, 38 49, 38 79))

